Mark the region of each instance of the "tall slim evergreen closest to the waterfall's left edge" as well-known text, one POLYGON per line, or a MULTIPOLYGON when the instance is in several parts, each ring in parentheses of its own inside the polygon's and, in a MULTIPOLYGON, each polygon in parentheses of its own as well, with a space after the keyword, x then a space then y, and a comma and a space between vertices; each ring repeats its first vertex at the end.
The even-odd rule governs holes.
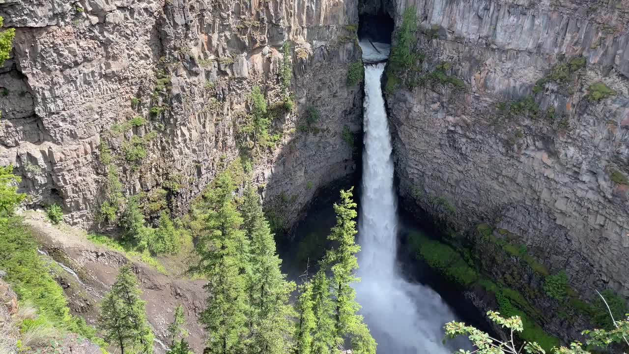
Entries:
POLYGON ((356 253, 360 246, 354 241, 356 231, 356 203, 352 200, 353 187, 341 191, 341 202, 334 204, 337 224, 332 228, 328 239, 337 246, 328 251, 326 262, 331 265, 333 288, 332 297, 335 302, 335 332, 337 338, 349 337, 355 353, 376 353, 376 341, 370 336, 369 329, 363 323, 362 316, 357 312, 360 305, 356 301, 356 292, 352 283, 359 282, 356 276, 358 261, 356 253))

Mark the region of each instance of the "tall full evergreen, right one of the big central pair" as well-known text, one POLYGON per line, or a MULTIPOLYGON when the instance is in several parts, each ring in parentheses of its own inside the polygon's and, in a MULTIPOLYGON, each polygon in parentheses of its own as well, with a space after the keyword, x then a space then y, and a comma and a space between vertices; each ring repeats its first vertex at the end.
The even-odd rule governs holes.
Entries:
POLYGON ((260 198, 252 186, 245 191, 242 205, 243 229, 250 240, 247 276, 248 353, 286 353, 291 333, 289 295, 294 283, 286 281, 276 253, 269 223, 264 219, 260 198))

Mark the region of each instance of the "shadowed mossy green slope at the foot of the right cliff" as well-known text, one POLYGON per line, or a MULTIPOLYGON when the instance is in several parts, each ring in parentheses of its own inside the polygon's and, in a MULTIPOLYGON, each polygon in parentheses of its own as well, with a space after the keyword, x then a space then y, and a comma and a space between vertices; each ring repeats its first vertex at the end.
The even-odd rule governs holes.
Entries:
MULTIPOLYGON (((479 237, 477 242, 484 245, 482 252, 487 253, 482 259, 486 259, 490 268, 496 266, 501 268, 501 271, 497 273, 503 273, 503 277, 497 282, 490 280, 490 276, 495 274, 486 275, 482 272, 486 268, 483 268, 481 258, 474 253, 479 250, 466 249, 459 244, 455 246, 445 244, 419 232, 411 232, 407 237, 407 242, 418 258, 426 261, 431 268, 440 271, 448 279, 466 288, 480 286, 489 294, 493 294, 501 314, 519 316, 524 324, 523 329, 517 333, 519 338, 523 341, 536 342, 547 352, 559 346, 559 340, 545 333, 540 326, 547 316, 533 305, 533 300, 540 297, 547 296, 560 302, 558 309, 567 313, 560 313, 558 316, 569 318, 568 313, 581 314, 589 317, 596 326, 613 328, 609 313, 602 301, 595 301, 593 305, 589 305, 580 300, 576 292, 569 287, 565 271, 550 275, 547 268, 528 253, 526 246, 509 241, 512 236, 507 230, 493 229, 487 224, 479 224, 475 234, 479 237), (494 232, 497 234, 494 235, 494 232), (509 260, 509 263, 518 260, 520 266, 517 269, 511 269, 506 260, 509 260), (526 273, 527 269, 543 279, 543 293, 522 282, 523 275, 520 275, 520 272, 526 273), (521 289, 522 294, 515 288, 521 289)), ((603 292, 603 296, 608 299, 615 318, 621 318, 625 313, 623 311, 627 311, 625 300, 609 290, 603 292)))

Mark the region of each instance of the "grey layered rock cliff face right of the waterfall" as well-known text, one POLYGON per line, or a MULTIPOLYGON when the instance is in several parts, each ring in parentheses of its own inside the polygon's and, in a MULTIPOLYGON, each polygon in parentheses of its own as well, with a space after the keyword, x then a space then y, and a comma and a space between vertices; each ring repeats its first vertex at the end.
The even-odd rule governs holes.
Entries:
MULTIPOLYGON (((489 224, 551 274, 565 269, 584 299, 595 288, 628 297, 626 5, 402 0, 386 8, 396 28, 407 9, 418 24, 416 67, 397 72, 387 93, 406 207, 459 235, 489 224)), ((378 2, 365 8, 376 13, 378 2)), ((533 278, 522 282, 539 289, 543 277, 533 278)))

